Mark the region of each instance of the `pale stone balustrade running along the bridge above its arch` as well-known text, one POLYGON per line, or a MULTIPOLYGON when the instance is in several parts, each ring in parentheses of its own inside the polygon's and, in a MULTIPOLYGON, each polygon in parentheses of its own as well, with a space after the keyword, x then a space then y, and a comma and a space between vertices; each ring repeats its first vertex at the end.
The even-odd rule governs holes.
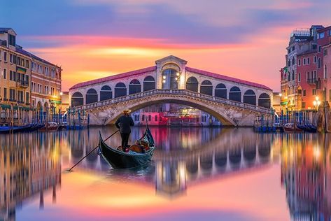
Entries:
POLYGON ((190 97, 196 97, 199 99, 204 99, 207 101, 214 101, 220 104, 227 104, 230 106, 236 106, 239 108, 245 108, 248 110, 254 110, 254 111, 258 111, 260 113, 271 113, 272 110, 269 108, 263 108, 260 106, 255 106, 255 105, 251 105, 251 104, 245 104, 245 103, 241 103, 239 101, 231 101, 228 99, 224 99, 221 97, 213 97, 211 95, 207 95, 207 94, 201 94, 198 92, 192 92, 190 90, 167 90, 167 89, 155 89, 155 90, 149 90, 146 92, 141 92, 141 93, 137 93, 137 94, 130 94, 130 95, 126 95, 123 97, 117 97, 114 99, 108 99, 105 101, 98 101, 95 103, 91 103, 91 104, 85 104, 83 106, 77 106, 72 108, 72 110, 87 110, 87 109, 93 109, 93 108, 99 108, 102 106, 107 106, 109 104, 117 104, 123 101, 130 101, 133 99, 139 99, 139 98, 143 98, 143 97, 148 97, 151 95, 155 95, 155 94, 174 94, 174 95, 186 95, 186 96, 190 96, 190 97))

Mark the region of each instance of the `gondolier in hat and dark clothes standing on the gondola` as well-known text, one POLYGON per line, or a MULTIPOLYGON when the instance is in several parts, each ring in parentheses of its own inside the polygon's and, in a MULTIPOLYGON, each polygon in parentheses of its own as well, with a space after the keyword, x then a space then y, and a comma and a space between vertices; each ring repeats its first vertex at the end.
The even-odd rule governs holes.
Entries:
POLYGON ((122 138, 122 150, 128 147, 129 136, 131 134, 131 126, 134 126, 134 120, 129 115, 131 110, 123 110, 123 115, 116 120, 115 125, 120 129, 120 136, 122 138))

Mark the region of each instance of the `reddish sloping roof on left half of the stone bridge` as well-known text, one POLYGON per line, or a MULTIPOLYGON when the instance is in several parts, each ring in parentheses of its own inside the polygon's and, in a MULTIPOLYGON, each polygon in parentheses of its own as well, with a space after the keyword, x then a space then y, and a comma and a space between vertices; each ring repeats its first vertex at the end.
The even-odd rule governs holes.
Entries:
POLYGON ((95 79, 95 80, 89 80, 89 81, 85 81, 83 83, 78 83, 76 85, 73 85, 72 87, 69 88, 69 90, 73 90, 76 89, 78 87, 85 87, 87 85, 94 85, 94 84, 99 84, 99 83, 103 83, 106 82, 108 80, 115 80, 115 79, 119 79, 119 78, 126 78, 129 76, 136 76, 139 75, 141 73, 148 73, 150 71, 155 71, 156 70, 156 66, 150 66, 146 69, 139 69, 136 71, 129 71, 129 72, 125 72, 125 73, 119 73, 115 76, 108 76, 105 78, 99 78, 99 79, 95 79))

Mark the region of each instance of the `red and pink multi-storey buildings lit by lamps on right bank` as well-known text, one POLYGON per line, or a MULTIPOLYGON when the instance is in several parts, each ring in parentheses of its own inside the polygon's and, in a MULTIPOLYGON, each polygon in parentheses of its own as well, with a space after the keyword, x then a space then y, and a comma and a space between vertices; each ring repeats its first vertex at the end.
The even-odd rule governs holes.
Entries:
POLYGON ((317 110, 331 101, 331 27, 321 25, 291 34, 286 66, 281 69, 281 106, 286 110, 317 110))

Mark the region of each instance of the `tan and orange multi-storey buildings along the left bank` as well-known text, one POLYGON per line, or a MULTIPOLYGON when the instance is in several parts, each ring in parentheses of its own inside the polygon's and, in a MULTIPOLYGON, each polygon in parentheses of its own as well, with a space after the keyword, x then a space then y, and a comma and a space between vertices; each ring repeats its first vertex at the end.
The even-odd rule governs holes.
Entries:
POLYGON ((58 112, 62 70, 17 45, 16 36, 13 29, 0 28, 1 120, 6 121, 6 108, 13 107, 18 110, 13 118, 22 124, 31 120, 31 114, 22 110, 58 112))

